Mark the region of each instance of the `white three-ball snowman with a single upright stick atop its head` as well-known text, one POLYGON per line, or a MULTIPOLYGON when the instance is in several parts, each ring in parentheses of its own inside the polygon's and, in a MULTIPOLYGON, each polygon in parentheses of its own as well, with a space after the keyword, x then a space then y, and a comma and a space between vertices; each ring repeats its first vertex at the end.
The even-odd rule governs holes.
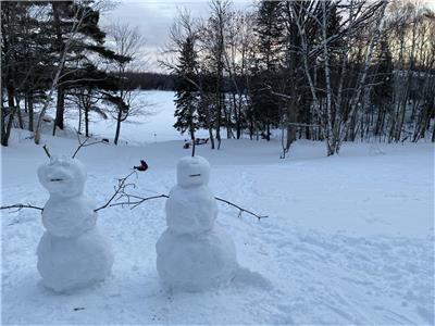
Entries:
POLYGON ((217 206, 208 187, 210 164, 185 156, 166 201, 167 228, 157 242, 157 269, 171 290, 203 291, 228 284, 238 269, 228 234, 215 225, 217 206))

